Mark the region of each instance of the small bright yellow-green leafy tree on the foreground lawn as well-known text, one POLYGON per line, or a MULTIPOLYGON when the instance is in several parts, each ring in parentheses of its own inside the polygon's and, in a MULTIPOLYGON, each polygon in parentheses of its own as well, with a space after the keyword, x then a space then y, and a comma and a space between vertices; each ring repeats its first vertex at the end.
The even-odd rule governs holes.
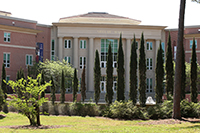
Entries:
POLYGON ((51 83, 45 83, 43 85, 38 84, 38 80, 41 78, 41 74, 37 76, 37 79, 32 79, 31 77, 27 77, 27 82, 25 79, 20 79, 18 81, 8 81, 8 85, 12 87, 13 91, 18 89, 18 86, 23 86, 24 90, 22 90, 22 98, 18 96, 10 96, 13 100, 9 102, 9 106, 15 107, 17 110, 20 110, 19 113, 28 117, 31 126, 40 126, 40 115, 39 115, 39 107, 47 101, 47 99, 40 98, 42 91, 46 89, 46 87, 51 86, 51 83), (31 97, 27 96, 30 94, 31 97))

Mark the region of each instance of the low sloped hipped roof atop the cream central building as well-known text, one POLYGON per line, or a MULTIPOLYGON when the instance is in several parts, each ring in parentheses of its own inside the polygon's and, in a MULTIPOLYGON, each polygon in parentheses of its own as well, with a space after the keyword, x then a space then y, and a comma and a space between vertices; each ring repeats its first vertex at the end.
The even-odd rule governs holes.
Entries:
POLYGON ((131 24, 138 25, 140 20, 112 15, 106 12, 89 12, 82 15, 60 18, 59 23, 92 23, 92 24, 131 24))

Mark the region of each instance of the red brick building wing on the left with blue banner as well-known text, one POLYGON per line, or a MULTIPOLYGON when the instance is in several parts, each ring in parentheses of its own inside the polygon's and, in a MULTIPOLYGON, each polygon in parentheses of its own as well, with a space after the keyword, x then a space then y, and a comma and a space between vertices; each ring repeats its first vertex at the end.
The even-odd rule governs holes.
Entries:
POLYGON ((20 68, 26 73, 38 57, 50 59, 50 33, 50 26, 0 11, 0 60, 5 64, 7 81, 15 80, 20 68))

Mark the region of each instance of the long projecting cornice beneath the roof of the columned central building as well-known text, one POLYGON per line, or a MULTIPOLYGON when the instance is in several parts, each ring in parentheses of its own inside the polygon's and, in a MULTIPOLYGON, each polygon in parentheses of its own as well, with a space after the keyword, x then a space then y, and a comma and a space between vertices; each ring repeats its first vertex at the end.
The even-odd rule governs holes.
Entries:
POLYGON ((135 28, 135 29, 165 29, 167 26, 131 25, 131 24, 94 24, 94 23, 52 23, 57 27, 101 27, 101 28, 135 28))

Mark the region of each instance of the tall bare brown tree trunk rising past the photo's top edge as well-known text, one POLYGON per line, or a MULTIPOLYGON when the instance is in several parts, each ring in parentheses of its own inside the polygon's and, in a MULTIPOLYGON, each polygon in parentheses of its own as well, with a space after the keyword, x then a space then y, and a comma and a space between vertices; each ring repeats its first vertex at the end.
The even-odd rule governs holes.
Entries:
POLYGON ((181 0, 179 12, 179 28, 178 28, 178 45, 176 53, 175 67, 175 84, 174 84, 174 99, 173 99, 173 118, 181 119, 180 99, 181 99, 181 69, 182 68, 182 50, 183 50, 183 34, 184 34, 184 16, 185 16, 186 0, 181 0))

